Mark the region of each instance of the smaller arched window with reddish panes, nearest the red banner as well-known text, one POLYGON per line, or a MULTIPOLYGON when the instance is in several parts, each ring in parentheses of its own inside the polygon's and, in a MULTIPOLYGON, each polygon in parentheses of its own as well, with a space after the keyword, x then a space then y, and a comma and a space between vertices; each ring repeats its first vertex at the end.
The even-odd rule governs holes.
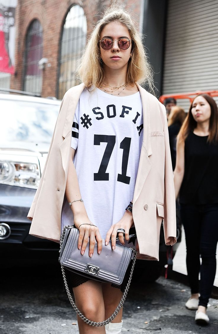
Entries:
POLYGON ((31 93, 41 93, 42 70, 38 61, 42 58, 42 26, 38 20, 32 21, 26 34, 24 54, 23 90, 31 93))

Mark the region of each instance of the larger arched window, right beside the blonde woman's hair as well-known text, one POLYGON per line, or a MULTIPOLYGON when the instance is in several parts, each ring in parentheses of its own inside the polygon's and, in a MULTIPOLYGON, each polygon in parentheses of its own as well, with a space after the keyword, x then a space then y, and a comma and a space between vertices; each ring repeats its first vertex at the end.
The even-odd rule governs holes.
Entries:
POLYGON ((58 98, 62 99, 65 92, 79 82, 74 78, 78 59, 85 47, 87 21, 84 10, 74 5, 69 10, 62 32, 59 59, 58 98))

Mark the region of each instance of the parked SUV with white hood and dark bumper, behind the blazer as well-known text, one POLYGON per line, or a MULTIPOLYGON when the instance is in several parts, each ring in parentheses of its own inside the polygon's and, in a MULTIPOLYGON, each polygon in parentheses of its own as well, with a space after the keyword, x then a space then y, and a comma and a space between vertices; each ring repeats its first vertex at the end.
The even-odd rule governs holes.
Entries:
POLYGON ((26 218, 44 168, 61 101, 0 94, 0 249, 49 249, 26 218), (16 248, 17 249, 17 248, 16 248))

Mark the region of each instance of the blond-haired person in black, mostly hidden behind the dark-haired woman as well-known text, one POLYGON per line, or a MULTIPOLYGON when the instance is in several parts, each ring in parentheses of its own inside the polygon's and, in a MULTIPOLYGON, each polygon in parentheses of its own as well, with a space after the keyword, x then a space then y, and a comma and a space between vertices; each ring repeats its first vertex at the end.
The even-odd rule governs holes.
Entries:
POLYGON ((185 118, 186 113, 183 108, 179 106, 172 107, 168 117, 168 131, 173 170, 176 166, 176 139, 185 118))

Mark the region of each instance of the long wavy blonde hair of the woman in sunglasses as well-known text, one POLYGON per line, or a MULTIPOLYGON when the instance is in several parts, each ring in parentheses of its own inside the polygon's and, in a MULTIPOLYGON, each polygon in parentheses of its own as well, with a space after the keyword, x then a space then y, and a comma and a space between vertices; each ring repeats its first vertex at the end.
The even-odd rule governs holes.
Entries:
POLYGON ((87 46, 81 58, 77 70, 77 76, 85 83, 87 88, 92 85, 99 88, 104 81, 104 64, 100 55, 100 34, 102 29, 110 22, 119 22, 124 25, 133 41, 132 57, 128 62, 127 83, 134 85, 146 83, 154 94, 153 71, 148 62, 146 52, 142 44, 142 34, 137 30, 136 22, 132 15, 117 4, 106 9, 103 17, 97 22, 92 34, 88 38, 87 46))

